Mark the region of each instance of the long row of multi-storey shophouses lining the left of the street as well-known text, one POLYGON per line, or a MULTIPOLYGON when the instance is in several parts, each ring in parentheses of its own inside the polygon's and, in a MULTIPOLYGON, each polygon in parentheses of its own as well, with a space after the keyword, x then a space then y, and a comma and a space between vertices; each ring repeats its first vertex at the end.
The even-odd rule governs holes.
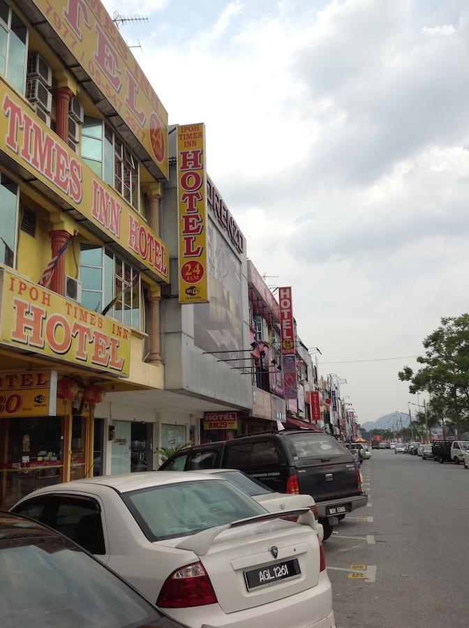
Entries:
POLYGON ((179 302, 177 127, 101 3, 0 0, 0 35, 0 507, 186 442, 352 434, 296 324, 285 393, 279 301, 209 177, 210 298, 179 302))

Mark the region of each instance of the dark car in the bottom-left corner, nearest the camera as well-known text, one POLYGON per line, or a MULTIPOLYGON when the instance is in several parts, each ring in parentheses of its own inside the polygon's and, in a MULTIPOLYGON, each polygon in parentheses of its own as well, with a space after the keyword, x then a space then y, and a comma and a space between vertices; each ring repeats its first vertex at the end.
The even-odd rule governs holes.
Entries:
POLYGON ((0 512, 0 626, 183 628, 55 530, 0 512))

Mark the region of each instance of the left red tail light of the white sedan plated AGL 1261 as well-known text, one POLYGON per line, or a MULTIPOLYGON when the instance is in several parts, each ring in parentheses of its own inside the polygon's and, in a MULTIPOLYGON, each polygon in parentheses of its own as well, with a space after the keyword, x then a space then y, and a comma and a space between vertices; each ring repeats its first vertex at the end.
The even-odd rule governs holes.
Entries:
POLYGON ((216 595, 202 563, 181 567, 166 579, 156 606, 161 608, 187 608, 216 604, 216 595))

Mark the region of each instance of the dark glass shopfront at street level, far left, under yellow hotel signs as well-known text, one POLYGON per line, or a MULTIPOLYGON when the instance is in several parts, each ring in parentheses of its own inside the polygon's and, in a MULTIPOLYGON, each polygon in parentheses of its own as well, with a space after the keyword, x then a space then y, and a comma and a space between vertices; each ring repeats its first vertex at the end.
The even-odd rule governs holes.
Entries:
POLYGON ((0 509, 62 481, 63 438, 61 417, 0 419, 0 509))

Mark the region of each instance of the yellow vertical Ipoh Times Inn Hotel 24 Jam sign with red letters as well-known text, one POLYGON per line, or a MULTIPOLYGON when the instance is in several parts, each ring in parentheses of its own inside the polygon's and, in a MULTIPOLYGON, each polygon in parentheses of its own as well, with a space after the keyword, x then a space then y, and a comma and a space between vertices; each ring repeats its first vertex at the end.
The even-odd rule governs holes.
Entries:
POLYGON ((204 124, 177 127, 179 303, 209 301, 204 124))

